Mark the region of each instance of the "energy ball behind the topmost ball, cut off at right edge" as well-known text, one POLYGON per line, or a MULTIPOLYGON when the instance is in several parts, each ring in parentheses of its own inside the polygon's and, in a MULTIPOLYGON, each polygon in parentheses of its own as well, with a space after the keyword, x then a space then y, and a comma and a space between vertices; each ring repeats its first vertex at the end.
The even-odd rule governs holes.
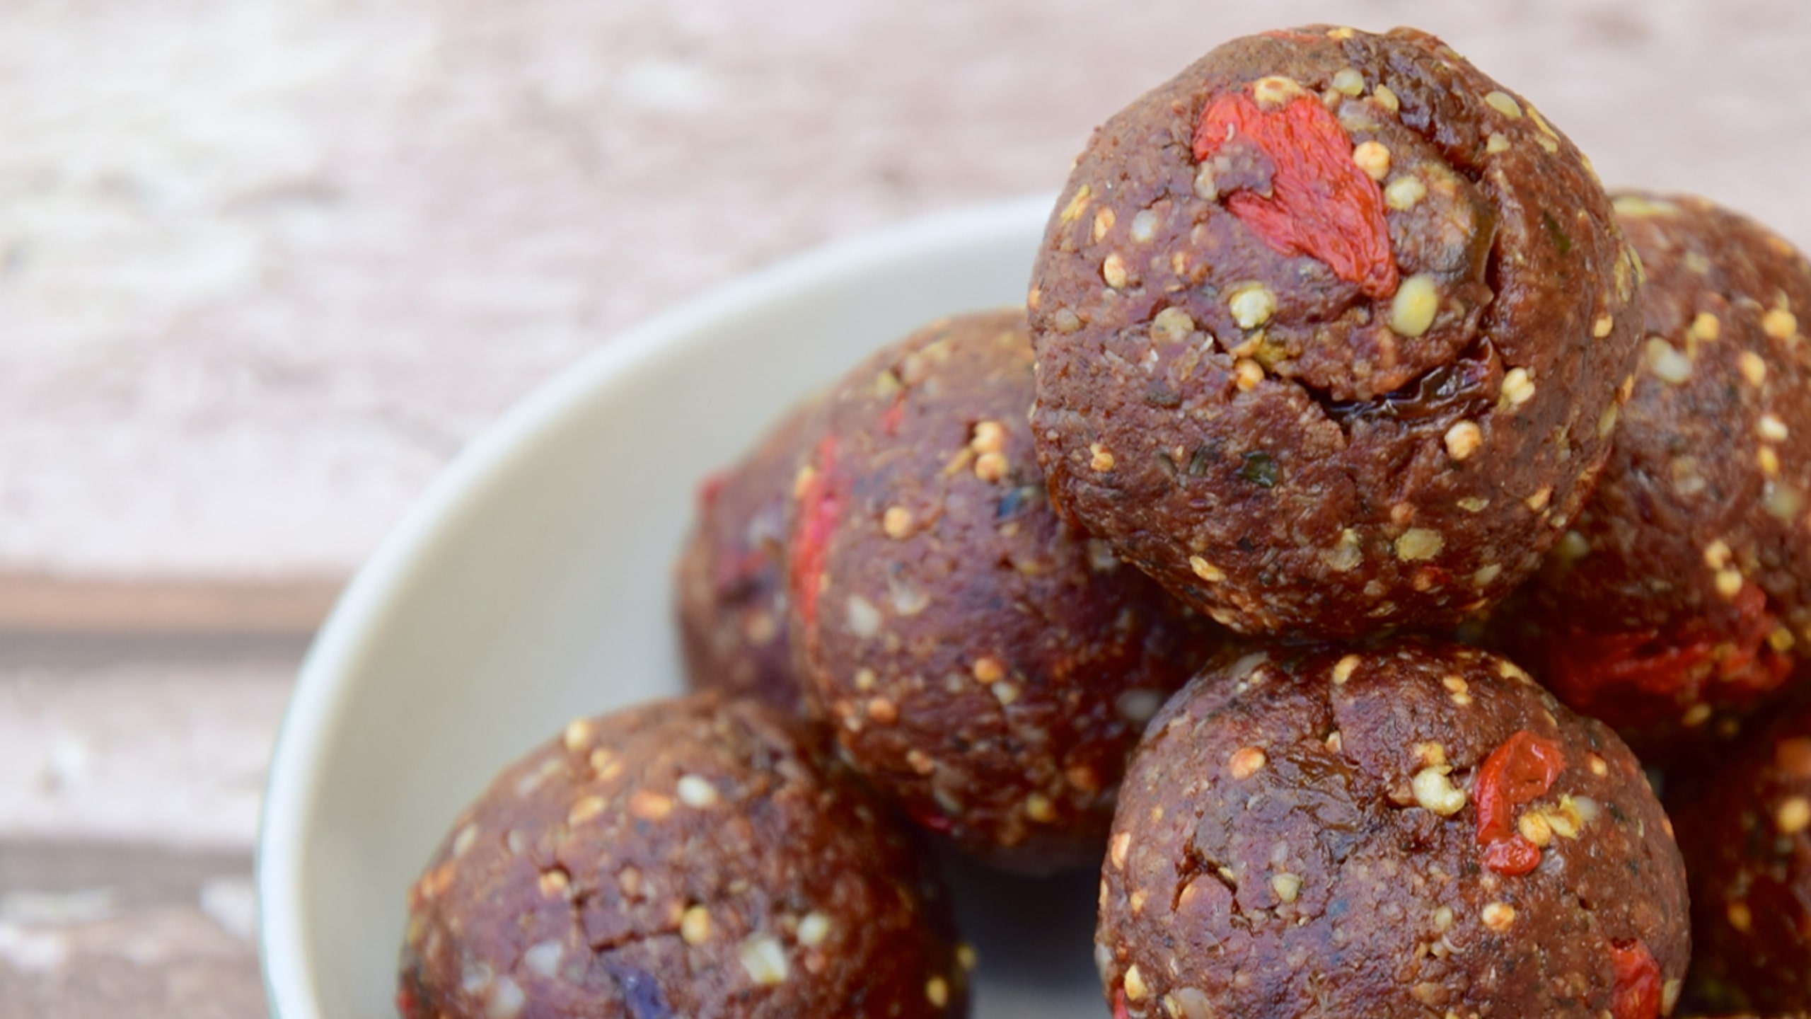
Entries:
POLYGON ((1567 704, 1659 752, 1811 645, 1811 263, 1701 198, 1621 194, 1643 357, 1595 493, 1500 622, 1567 704))

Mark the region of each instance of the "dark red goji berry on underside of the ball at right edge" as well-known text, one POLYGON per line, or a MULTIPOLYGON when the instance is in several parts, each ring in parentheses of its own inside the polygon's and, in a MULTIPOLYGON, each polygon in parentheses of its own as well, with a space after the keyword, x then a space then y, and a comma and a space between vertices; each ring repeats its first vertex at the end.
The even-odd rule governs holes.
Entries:
POLYGON ((1672 718, 1677 705, 1701 702, 1711 685, 1719 700, 1769 693, 1793 671, 1793 658, 1768 644, 1778 618, 1753 584, 1737 593, 1735 609, 1737 624, 1728 633, 1702 624, 1670 638, 1659 629, 1605 635, 1567 627, 1565 640, 1554 642, 1547 680, 1572 707, 1615 725, 1672 718))

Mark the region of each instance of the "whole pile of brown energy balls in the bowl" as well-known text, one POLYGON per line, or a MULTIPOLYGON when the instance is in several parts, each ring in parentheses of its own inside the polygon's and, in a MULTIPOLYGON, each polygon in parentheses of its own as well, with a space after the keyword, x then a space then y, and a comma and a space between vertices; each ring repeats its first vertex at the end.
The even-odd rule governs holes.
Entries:
POLYGON ((1811 1010, 1802 308, 1438 38, 1212 51, 706 484, 699 693, 453 823, 402 1015, 965 1015, 936 841, 1097 867, 1121 1019, 1811 1010))

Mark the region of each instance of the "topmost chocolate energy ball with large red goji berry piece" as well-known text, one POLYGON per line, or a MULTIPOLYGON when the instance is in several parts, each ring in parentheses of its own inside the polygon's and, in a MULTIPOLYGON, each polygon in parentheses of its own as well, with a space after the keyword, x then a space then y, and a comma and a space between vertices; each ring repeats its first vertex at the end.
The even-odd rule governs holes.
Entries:
POLYGON ((1230 42, 1096 131, 1030 286, 1058 508, 1242 633, 1440 629, 1608 455, 1639 265, 1434 36, 1230 42))

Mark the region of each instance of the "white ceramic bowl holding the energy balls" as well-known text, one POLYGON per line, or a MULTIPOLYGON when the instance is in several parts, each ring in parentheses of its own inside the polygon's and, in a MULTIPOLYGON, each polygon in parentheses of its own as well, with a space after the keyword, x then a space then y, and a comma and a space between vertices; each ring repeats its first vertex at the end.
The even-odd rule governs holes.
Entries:
MULTIPOLYGON (((277 742, 257 861, 273 1019, 395 1015, 404 894, 460 807, 574 714, 679 691, 670 562, 697 480, 882 343, 1021 303, 1049 209, 942 216, 724 286, 458 457, 335 607, 277 742)), ((956 870, 978 1019, 1105 1012, 1092 878, 956 870)))

